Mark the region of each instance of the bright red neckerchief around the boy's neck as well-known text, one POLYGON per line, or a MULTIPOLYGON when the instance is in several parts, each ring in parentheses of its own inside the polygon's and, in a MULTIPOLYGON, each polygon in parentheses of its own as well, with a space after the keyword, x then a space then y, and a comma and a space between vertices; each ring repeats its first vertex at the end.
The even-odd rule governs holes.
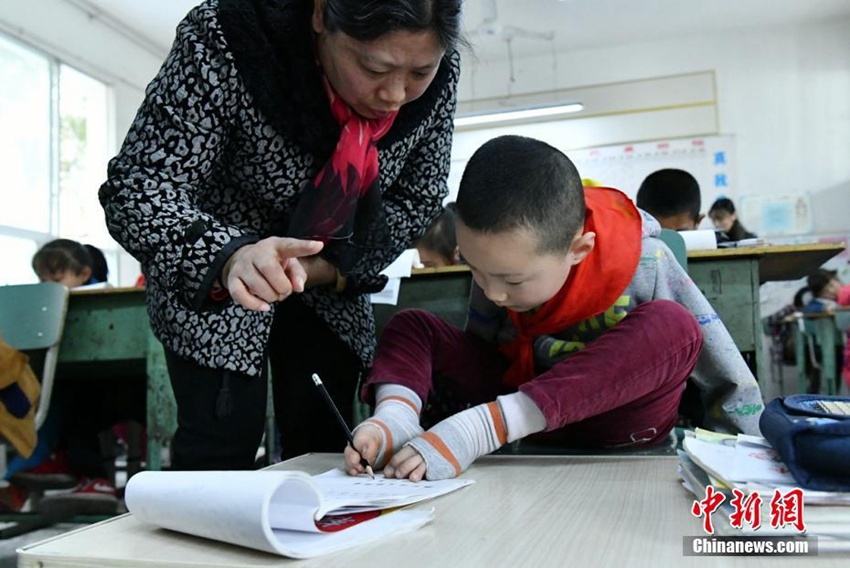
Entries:
POLYGON ((634 277, 640 260, 642 221, 631 199, 609 187, 585 187, 584 232, 596 233, 593 250, 570 270, 561 290, 534 313, 508 315, 517 338, 501 346, 511 360, 503 382, 518 387, 535 376, 534 338, 551 335, 604 312, 634 277))

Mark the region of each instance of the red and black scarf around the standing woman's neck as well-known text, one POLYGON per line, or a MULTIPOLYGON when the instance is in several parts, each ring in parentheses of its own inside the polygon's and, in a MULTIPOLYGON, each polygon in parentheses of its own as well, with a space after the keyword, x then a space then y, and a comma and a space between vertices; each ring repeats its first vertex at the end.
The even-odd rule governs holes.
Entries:
POLYGON ((354 232, 358 200, 378 179, 378 140, 393 125, 398 112, 377 119, 354 112, 323 78, 331 113, 341 126, 333 155, 306 188, 292 216, 292 236, 347 239, 354 232))

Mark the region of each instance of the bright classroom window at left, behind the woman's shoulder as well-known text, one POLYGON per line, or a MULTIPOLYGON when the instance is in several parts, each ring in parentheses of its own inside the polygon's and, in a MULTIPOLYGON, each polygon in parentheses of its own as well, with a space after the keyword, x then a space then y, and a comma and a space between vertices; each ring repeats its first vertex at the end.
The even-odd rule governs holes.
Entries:
POLYGON ((109 159, 108 87, 0 34, 0 285, 35 282, 32 254, 57 236, 104 249, 97 190, 109 159))

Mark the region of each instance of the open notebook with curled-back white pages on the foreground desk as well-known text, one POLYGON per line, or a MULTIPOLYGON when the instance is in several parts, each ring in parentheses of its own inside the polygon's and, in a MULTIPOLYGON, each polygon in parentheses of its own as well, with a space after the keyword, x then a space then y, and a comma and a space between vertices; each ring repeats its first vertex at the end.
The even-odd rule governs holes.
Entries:
POLYGON ((140 521, 292 558, 417 529, 433 509, 396 510, 474 483, 351 477, 341 470, 143 471, 127 483, 140 521))

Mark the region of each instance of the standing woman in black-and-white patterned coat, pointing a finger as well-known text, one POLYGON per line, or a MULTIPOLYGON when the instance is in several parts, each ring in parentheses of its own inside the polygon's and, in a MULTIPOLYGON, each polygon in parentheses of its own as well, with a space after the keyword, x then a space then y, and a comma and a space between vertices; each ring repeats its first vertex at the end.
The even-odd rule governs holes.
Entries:
POLYGON ((447 194, 461 0, 209 0, 177 28, 100 201, 137 258, 174 469, 249 469, 271 364, 283 457, 340 451, 367 293, 447 194))

